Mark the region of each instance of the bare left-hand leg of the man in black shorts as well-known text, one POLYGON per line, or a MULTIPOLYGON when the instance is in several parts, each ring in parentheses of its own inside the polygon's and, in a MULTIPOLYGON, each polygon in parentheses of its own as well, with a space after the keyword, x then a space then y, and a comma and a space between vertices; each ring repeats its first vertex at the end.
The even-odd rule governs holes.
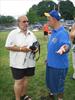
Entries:
MULTIPOLYGON (((24 92, 24 83, 25 83, 25 78, 20 79, 20 80, 15 80, 15 84, 14 84, 14 92, 15 92, 15 96, 16 96, 16 100, 20 100, 21 95, 23 95, 22 93, 24 92)), ((26 82, 27 83, 27 82, 26 82)))

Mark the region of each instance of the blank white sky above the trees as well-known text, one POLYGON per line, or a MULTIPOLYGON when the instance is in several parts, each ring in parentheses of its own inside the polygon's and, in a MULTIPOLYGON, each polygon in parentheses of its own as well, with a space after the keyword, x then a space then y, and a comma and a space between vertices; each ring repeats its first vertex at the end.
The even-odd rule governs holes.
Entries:
MULTIPOLYGON (((34 4, 38 4, 42 0, 0 0, 0 15, 10 15, 17 18, 28 12, 29 8, 34 4)), ((57 0, 53 0, 57 3, 57 0)), ((75 6, 75 0, 70 0, 75 6)))

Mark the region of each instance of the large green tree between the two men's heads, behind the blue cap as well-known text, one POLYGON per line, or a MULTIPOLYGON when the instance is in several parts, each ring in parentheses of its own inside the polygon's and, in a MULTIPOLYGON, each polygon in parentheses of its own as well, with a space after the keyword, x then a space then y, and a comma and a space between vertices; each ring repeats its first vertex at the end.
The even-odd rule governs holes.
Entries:
POLYGON ((49 12, 49 10, 52 10, 54 8, 54 4, 55 3, 52 1, 42 1, 37 6, 32 6, 32 8, 30 8, 29 12, 27 13, 30 23, 46 20, 44 12, 49 12))

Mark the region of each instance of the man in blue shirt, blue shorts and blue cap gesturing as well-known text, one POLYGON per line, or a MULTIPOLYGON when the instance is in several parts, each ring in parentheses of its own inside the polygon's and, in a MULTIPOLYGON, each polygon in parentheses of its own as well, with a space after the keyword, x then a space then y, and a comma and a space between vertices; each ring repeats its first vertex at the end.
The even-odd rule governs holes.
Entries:
POLYGON ((63 100, 64 82, 69 67, 70 37, 59 21, 61 15, 58 11, 52 10, 44 14, 52 28, 51 37, 48 40, 46 63, 46 84, 49 89, 49 98, 54 100, 57 95, 58 100, 63 100))

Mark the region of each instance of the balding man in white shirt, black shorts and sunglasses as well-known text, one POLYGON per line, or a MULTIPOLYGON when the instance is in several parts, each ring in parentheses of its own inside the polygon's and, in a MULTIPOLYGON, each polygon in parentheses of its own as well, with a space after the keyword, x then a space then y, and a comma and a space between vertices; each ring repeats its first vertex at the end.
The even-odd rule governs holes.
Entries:
POLYGON ((37 39, 28 30, 27 16, 20 16, 17 23, 17 29, 9 33, 5 47, 10 51, 10 67, 15 80, 15 98, 16 100, 31 100, 31 97, 27 95, 27 87, 29 77, 35 74, 35 60, 30 47, 37 39))

